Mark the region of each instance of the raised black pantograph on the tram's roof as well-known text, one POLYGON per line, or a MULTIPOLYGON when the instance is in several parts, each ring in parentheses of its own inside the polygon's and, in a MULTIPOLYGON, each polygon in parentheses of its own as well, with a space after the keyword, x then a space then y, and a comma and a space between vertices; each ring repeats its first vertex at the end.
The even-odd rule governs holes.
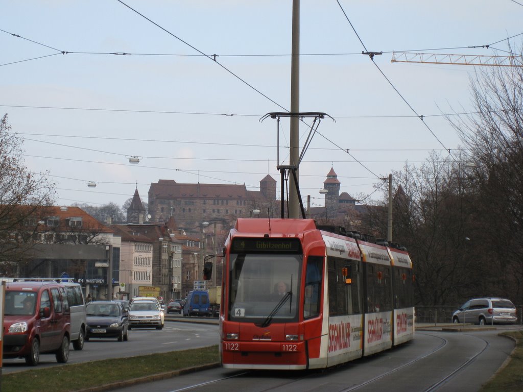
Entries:
MULTIPOLYGON (((278 166, 276 168, 280 171, 280 174, 281 174, 281 217, 283 218, 283 217, 285 217, 285 200, 284 200, 285 189, 283 187, 283 184, 285 183, 286 174, 288 175, 288 174, 292 173, 294 183, 296 183, 296 184, 298 183, 297 171, 300 167, 300 163, 305 155, 305 152, 307 151, 307 149, 309 148, 309 145, 312 142, 312 138, 314 137, 316 130, 320 126, 321 119, 328 117, 328 118, 332 119, 334 122, 336 122, 336 120, 334 120, 327 113, 323 113, 323 112, 298 112, 298 113, 271 112, 271 113, 265 114, 265 116, 263 116, 260 119, 260 121, 263 121, 268 117, 278 120, 278 125, 277 125, 277 128, 278 128, 278 142, 277 142, 278 166), (302 151, 298 158, 298 162, 295 163, 294 165, 280 165, 280 118, 281 117, 299 117, 301 121, 303 121, 304 118, 314 118, 312 125, 307 125, 307 126, 309 126, 309 134, 307 135, 307 139, 305 140, 305 143, 303 144, 303 148, 302 148, 302 151)), ((301 214, 303 216, 303 219, 305 219, 305 209, 303 207, 303 200, 301 199, 301 193, 300 193, 299 187, 296 187, 296 192, 298 193, 298 200, 300 202, 301 214)))

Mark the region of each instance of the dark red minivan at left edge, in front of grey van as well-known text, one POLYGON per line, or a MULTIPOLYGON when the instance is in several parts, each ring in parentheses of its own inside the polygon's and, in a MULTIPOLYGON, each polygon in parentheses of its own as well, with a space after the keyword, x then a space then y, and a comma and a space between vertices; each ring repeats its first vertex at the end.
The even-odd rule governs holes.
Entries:
POLYGON ((69 359, 71 314, 65 286, 55 282, 6 283, 3 358, 36 366, 40 354, 69 359))

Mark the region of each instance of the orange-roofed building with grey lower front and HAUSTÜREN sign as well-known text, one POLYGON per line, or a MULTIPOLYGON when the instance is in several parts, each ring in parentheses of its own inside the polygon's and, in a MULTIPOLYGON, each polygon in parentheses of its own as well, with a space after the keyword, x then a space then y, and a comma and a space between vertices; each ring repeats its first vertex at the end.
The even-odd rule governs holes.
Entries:
POLYGON ((110 227, 72 206, 42 206, 29 221, 36 224, 33 256, 20 264, 17 277, 74 278, 86 296, 112 297, 121 243, 110 227))

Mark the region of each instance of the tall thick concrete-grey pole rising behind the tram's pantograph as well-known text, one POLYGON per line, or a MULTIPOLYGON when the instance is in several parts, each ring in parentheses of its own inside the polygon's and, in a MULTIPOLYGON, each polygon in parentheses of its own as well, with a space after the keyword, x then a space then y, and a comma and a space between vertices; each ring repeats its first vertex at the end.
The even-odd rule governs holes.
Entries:
MULTIPOLYGON (((300 111, 300 0, 292 0, 292 43, 291 43, 291 113, 300 111)), ((300 119, 290 118, 289 165, 298 166, 300 157, 300 119)), ((298 187, 299 168, 296 178, 289 179, 289 217, 300 217, 298 187)))

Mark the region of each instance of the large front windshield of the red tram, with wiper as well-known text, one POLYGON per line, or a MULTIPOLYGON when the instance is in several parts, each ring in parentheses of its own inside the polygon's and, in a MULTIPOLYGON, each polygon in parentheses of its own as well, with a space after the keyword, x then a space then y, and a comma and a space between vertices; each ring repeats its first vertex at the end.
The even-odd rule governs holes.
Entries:
POLYGON ((300 255, 231 255, 230 319, 267 323, 298 316, 300 255))

